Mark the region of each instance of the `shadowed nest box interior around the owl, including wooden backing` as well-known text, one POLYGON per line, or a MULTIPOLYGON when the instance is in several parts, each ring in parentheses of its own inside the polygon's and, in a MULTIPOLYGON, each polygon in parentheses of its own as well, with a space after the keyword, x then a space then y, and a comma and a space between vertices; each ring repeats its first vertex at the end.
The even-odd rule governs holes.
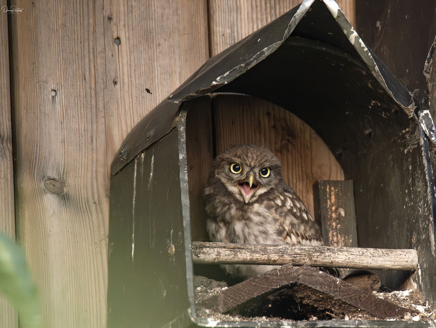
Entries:
MULTIPOLYGON (((317 179, 353 180, 358 247, 401 249, 426 243, 428 236, 416 238, 419 227, 428 231, 426 217, 431 215, 422 131, 360 58, 291 36, 216 91, 221 94, 197 99, 203 104, 188 111, 193 240, 208 238, 201 191, 213 157, 243 142, 273 150, 286 168, 286 182, 311 211, 317 179)), ((409 276, 405 271, 377 274, 392 290, 409 276)))

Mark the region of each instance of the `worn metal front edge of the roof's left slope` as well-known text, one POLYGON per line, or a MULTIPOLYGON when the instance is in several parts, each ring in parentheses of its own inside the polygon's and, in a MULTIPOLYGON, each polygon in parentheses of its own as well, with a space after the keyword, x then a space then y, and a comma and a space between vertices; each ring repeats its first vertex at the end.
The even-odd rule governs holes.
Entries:
MULTIPOLYGON (((283 38, 281 41, 277 41, 268 47, 263 48, 261 51, 256 53, 253 57, 251 57, 248 61, 245 61, 243 64, 239 64, 238 66, 232 68, 230 71, 225 72, 224 74, 221 74, 217 78, 215 78, 214 81, 212 81, 211 85, 209 85, 206 88, 199 89, 197 91, 192 92, 189 95, 184 96, 181 99, 170 99, 174 95, 170 95, 167 99, 164 101, 171 101, 171 102, 179 102, 179 101, 185 101, 192 98, 196 98, 202 95, 205 95, 207 93, 210 93, 222 85, 228 84, 229 82, 232 82, 235 78, 238 76, 244 74, 246 71, 248 71, 250 68, 255 66, 255 64, 258 64, 262 60, 264 60, 266 57, 268 57, 270 54, 272 54, 274 51, 279 48, 283 42, 290 36, 296 25, 300 22, 301 18, 306 14, 307 10, 310 8, 312 3, 315 0, 303 0, 303 2, 300 4, 300 7, 296 11, 296 13, 291 18, 290 22, 288 23, 288 27, 286 28, 285 33, 283 34, 283 38)), ((250 34, 251 35, 251 34, 250 34)), ((243 40, 243 39, 242 39, 243 40)), ((242 41, 241 40, 241 41, 242 41)), ((208 68, 209 69, 209 68, 208 68)), ((199 72, 197 75, 200 75, 201 72, 199 72)))

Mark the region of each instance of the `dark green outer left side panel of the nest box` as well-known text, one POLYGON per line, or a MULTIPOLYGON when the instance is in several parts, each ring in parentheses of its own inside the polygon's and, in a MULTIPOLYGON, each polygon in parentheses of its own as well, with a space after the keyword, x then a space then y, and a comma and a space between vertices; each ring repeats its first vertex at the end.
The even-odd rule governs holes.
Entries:
POLYGON ((177 128, 112 176, 110 200, 108 328, 186 325, 177 128))

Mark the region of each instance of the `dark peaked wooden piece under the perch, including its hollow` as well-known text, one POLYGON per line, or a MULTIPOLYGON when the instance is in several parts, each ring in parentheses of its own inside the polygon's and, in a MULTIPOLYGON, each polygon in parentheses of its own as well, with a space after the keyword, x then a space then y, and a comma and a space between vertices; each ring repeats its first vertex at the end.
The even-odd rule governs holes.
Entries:
POLYGON ((225 314, 291 320, 311 316, 331 319, 331 314, 344 318, 344 312, 355 311, 385 319, 409 311, 307 265, 278 267, 228 287, 198 305, 225 314))

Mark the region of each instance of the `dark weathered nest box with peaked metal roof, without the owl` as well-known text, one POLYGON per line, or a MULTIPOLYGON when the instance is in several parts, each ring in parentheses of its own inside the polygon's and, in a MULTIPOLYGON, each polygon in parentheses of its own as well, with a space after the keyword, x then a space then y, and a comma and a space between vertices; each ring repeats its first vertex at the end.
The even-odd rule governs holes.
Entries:
MULTIPOLYGON (((358 247, 416 249, 410 284, 436 304, 435 194, 418 103, 333 1, 304 1, 209 59, 112 163, 108 327, 208 324, 195 314, 191 243, 207 240, 209 165, 235 143, 272 149, 312 213, 316 180, 353 180, 358 247)), ((377 274, 397 289, 410 272, 377 274)))

